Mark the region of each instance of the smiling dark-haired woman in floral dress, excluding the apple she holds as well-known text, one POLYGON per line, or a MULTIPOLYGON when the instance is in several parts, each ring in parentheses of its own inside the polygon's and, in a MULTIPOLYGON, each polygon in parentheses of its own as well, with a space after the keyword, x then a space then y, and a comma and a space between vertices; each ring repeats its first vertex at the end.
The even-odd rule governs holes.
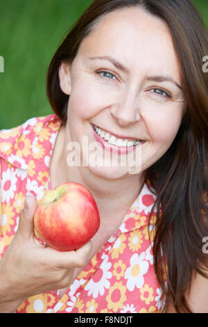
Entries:
POLYGON ((207 44, 188 0, 97 0, 80 17, 49 67, 55 115, 1 131, 1 312, 208 312, 207 44), (139 156, 103 164, 111 152, 139 156), (33 232, 36 200, 63 182, 101 215, 69 253, 33 232))

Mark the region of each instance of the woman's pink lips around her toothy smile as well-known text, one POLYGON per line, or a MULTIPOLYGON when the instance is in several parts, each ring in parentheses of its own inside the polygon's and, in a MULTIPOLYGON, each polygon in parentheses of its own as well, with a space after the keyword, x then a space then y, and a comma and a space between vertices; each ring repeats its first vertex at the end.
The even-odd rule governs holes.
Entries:
MULTIPOLYGON (((105 141, 104 138, 101 138, 101 136, 99 136, 98 134, 96 134, 96 131, 94 130, 94 125, 91 124, 92 127, 92 132, 94 135, 94 138, 96 139, 96 141, 98 141, 99 143, 101 143, 102 147, 104 150, 110 151, 110 152, 114 152, 117 153, 119 155, 121 154, 127 154, 130 153, 132 151, 135 151, 137 149, 137 147, 140 147, 142 144, 146 143, 146 141, 141 141, 141 143, 137 146, 132 146, 132 147, 118 147, 114 144, 110 144, 107 141, 105 141)), ((103 129, 103 131, 105 131, 105 129, 103 129)), ((112 133, 110 133, 112 134, 112 133)), ((116 136, 116 134, 112 134, 114 136, 116 136)), ((121 137, 121 136, 116 136, 117 138, 123 138, 123 139, 130 139, 132 140, 132 138, 127 138, 127 137, 121 137)))

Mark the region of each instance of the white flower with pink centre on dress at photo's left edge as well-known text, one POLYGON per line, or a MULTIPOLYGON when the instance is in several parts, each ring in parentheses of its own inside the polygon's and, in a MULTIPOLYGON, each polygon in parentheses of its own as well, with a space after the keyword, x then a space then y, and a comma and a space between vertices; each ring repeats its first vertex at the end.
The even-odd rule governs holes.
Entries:
POLYGON ((1 202, 9 202, 14 198, 17 190, 17 177, 15 177, 14 168, 8 168, 2 173, 1 179, 1 202))

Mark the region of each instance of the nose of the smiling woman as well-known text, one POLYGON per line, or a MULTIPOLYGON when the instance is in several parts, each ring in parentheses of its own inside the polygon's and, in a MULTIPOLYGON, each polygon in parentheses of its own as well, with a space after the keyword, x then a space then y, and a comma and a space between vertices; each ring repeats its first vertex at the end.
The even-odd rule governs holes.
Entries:
POLYGON ((125 95, 123 99, 114 104, 110 113, 121 127, 128 127, 141 120, 138 99, 136 101, 136 97, 130 94, 125 95))

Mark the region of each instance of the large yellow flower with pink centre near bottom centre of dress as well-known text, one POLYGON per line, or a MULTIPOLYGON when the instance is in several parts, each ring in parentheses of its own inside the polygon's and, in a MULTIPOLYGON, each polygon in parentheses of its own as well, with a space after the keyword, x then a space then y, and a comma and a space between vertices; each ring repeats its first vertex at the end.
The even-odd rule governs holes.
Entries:
POLYGON ((113 286, 110 287, 109 293, 106 296, 107 308, 117 312, 119 309, 123 308, 123 303, 126 301, 125 296, 126 287, 122 285, 122 282, 115 282, 113 286))

